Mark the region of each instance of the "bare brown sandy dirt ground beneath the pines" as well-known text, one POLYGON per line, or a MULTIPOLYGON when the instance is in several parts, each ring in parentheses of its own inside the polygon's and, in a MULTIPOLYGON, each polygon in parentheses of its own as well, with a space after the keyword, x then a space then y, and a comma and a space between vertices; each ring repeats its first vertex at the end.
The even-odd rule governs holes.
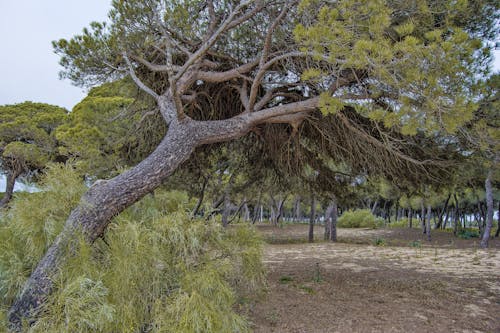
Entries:
POLYGON ((258 228, 274 244, 267 293, 247 309, 255 332, 500 332, 498 241, 341 229, 339 243, 309 244, 305 225, 258 228))

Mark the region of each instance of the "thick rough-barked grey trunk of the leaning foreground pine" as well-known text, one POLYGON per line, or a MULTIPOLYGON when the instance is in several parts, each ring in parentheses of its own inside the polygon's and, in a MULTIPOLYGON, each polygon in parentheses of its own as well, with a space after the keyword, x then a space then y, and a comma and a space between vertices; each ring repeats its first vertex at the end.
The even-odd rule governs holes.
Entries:
POLYGON ((67 250, 76 250, 80 233, 89 243, 94 242, 103 235, 114 216, 161 185, 197 146, 246 134, 251 123, 245 120, 173 120, 165 138, 145 160, 113 179, 94 183, 14 301, 9 311, 11 330, 21 331, 23 319, 29 320, 52 292, 52 281, 69 255, 67 250))

